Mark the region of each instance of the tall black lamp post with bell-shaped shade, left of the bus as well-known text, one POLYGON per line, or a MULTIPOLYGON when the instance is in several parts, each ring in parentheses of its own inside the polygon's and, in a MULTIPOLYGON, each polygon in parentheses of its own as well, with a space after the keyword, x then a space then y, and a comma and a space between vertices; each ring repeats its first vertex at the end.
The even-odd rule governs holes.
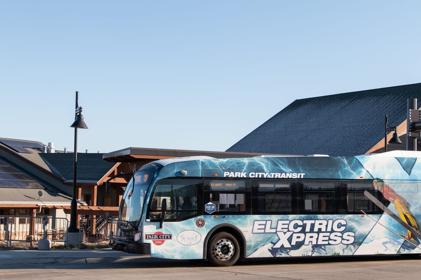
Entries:
POLYGON ((77 105, 77 100, 79 99, 79 92, 76 92, 76 111, 75 111, 75 122, 70 127, 75 128, 75 153, 73 158, 73 197, 72 202, 70 203, 70 225, 67 228, 67 232, 80 232, 79 228, 76 225, 77 217, 77 203, 76 203, 76 166, 77 166, 77 129, 78 128, 88 128, 83 121, 82 107, 77 105))

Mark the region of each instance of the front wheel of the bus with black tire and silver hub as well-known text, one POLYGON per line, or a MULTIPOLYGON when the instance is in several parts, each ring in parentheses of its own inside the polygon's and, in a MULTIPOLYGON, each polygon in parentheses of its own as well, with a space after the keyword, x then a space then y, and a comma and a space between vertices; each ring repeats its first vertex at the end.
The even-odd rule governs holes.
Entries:
POLYGON ((237 239, 228 232, 220 232, 208 243, 208 260, 218 267, 229 267, 240 257, 237 239))

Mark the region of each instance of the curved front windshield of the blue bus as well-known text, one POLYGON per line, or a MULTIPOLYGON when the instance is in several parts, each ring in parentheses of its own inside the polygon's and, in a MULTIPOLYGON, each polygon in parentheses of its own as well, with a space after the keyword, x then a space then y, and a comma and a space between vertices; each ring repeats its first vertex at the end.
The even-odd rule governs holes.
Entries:
POLYGON ((128 221, 131 227, 136 228, 139 225, 144 198, 147 194, 153 174, 150 172, 137 172, 128 182, 123 194, 120 209, 120 220, 128 221))

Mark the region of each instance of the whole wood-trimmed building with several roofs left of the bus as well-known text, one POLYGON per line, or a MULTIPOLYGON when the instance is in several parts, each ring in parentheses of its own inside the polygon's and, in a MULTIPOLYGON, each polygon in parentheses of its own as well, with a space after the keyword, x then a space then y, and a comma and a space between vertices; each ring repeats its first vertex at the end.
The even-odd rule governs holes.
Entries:
MULTIPOLYGON (((77 158, 77 214, 116 216, 126 181, 119 178, 111 194, 105 181, 128 172, 128 165, 104 161, 100 153, 78 153, 77 158)), ((42 206, 49 209, 43 217, 69 218, 73 159, 74 153, 55 151, 53 143, 0 138, 0 213, 10 218, 25 212, 35 218, 42 206)))

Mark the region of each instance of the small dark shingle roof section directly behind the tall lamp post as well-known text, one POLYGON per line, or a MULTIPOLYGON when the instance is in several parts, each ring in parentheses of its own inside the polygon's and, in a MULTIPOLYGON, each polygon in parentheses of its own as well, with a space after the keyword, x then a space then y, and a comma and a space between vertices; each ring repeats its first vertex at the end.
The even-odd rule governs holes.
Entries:
MULTIPOLYGON (((115 162, 102 159, 103 153, 77 153, 77 180, 100 180, 115 162)), ((66 180, 73 179, 74 153, 40 153, 40 156, 66 180)))

